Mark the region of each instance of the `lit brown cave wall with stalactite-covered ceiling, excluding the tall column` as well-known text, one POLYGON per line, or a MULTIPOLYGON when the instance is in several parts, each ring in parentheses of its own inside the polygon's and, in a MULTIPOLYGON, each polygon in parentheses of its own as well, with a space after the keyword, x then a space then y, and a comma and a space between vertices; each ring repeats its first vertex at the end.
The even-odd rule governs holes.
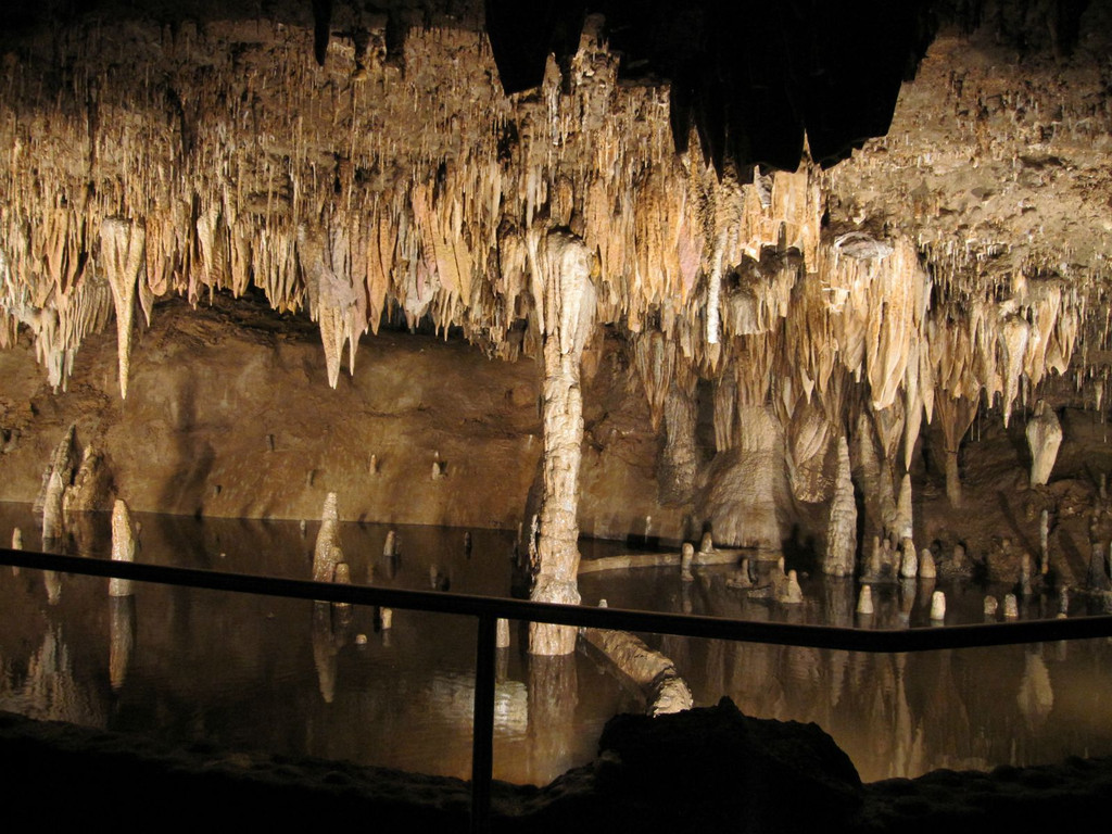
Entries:
MULTIPOLYGON (((79 398, 79 436, 103 440, 137 508, 308 516, 336 489, 345 517, 525 522, 539 383, 523 357, 545 334, 529 240, 553 232, 590 254, 597 299, 588 534, 692 536, 714 516, 738 530, 726 544, 778 546, 744 539, 744 502, 705 506, 753 409, 791 490, 765 527, 831 499, 845 438, 868 535, 892 532, 925 431, 956 454, 970 414, 1007 428, 1045 397, 1105 406, 1110 3, 1070 49, 1037 14, 942 21, 887 136, 795 171, 716 166, 698 130, 677 142, 671 88, 622 80, 595 16, 507 96, 478 7, 451 6, 321 21, 106 2, 0 40, 0 346, 79 398), (298 338, 187 324, 225 296, 300 317, 298 338), (384 321, 477 350, 437 376, 384 321), (500 363, 479 374, 479 351, 500 363), (484 400, 468 383, 487 370, 484 400), (661 460, 686 467, 663 494, 661 460), (160 486, 132 489, 140 468, 160 486)), ((47 429, 75 418, 4 361, 21 369, 4 431, 23 439, 3 488, 27 499, 47 429)))

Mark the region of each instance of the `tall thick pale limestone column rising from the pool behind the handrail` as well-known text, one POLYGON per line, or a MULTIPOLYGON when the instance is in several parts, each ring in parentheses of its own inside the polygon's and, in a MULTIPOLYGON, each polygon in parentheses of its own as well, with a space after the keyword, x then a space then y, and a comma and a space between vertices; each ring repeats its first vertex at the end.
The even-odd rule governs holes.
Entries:
MULTIPOLYGON (((579 460, 583 394, 579 361, 595 315, 590 252, 563 232, 530 235, 529 266, 538 304, 544 359, 544 497, 537 542, 537 577, 532 598, 576 605, 579 590, 579 460)), ((575 651, 576 629, 547 623, 529 626, 529 652, 565 655, 575 651)))

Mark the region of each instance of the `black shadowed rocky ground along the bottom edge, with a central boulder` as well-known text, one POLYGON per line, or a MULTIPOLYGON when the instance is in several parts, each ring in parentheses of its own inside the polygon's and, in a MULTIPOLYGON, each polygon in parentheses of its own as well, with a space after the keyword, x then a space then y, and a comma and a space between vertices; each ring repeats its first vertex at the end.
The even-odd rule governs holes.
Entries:
MULTIPOLYGON (((1096 818, 1112 797, 1112 757, 862 785, 816 725, 749 718, 727 698, 657 718, 617 716, 599 748, 595 762, 543 788, 496 782, 492 831, 1052 831, 1064 818, 1096 818)), ((450 832, 467 830, 470 804, 470 786, 456 778, 203 742, 175 746, 9 713, 0 713, 0 768, 8 795, 50 807, 61 830, 107 805, 137 810, 116 817, 121 831, 172 816, 179 825, 368 821, 450 832), (140 807, 158 808, 159 818, 140 807)))

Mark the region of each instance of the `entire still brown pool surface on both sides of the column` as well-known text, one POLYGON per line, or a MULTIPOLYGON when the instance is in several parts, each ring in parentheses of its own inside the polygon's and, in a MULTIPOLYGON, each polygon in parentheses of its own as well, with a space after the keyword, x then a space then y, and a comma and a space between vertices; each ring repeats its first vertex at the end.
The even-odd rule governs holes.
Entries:
MULTIPOLYGON (((309 578, 317 525, 137 515, 139 558, 153 564, 309 578)), ((108 555, 108 517, 85 519, 70 553, 108 555)), ((20 526, 41 546, 29 508, 0 505, 0 537, 20 526)), ((401 555, 381 556, 387 528, 341 525, 353 580, 508 595, 512 535, 399 527, 401 555)), ((585 543, 585 556, 616 545, 585 543)), ((585 575, 584 602, 784 622, 853 623, 847 584, 804 580, 807 602, 780 606, 667 569, 585 575)), ((95 727, 274 753, 306 754, 467 777, 475 623, 466 617, 349 612, 304 600, 0 569, 0 709, 95 727), (363 638, 366 638, 365 641, 363 638)), ((941 586, 947 623, 980 622, 984 588, 941 586)), ((991 588, 1001 597, 1005 588, 991 588)), ((873 624, 926 626, 930 594, 892 586, 873 624)), ((1030 599, 1023 616, 1055 610, 1030 599)), ((1072 613, 1072 612, 1071 612, 1072 613)), ((867 625, 867 624, 866 624, 867 625)), ((516 624, 515 624, 516 626, 516 624)), ((606 719, 639 698, 586 653, 529 658, 524 632, 498 657, 495 776, 543 784, 590 761, 606 719)), ((696 703, 729 695, 747 714, 814 721, 862 778, 936 767, 1033 764, 1112 753, 1112 645, 1106 641, 920 655, 647 639, 671 656, 696 703)))

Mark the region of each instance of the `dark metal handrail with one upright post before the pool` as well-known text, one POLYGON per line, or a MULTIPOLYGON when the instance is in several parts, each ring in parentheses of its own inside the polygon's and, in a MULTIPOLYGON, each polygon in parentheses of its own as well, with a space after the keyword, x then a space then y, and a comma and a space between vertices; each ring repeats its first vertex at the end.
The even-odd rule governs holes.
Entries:
POLYGON ((927 652, 944 648, 972 648, 975 646, 1112 636, 1112 615, 1108 614, 947 626, 945 628, 858 629, 844 626, 759 623, 623 608, 593 608, 475 594, 404 590, 369 585, 337 585, 306 579, 112 562, 7 548, 0 548, 0 564, 209 590, 351 605, 378 605, 476 617, 478 619, 478 637, 475 664, 475 715, 471 726, 471 831, 486 831, 489 827, 490 780, 494 759, 495 632, 499 618, 744 643, 883 653, 927 652))

